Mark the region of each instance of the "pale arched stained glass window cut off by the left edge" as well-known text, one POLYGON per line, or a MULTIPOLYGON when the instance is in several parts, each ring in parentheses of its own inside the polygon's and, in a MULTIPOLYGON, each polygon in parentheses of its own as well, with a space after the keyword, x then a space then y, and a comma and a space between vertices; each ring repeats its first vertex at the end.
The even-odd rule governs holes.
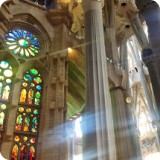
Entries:
POLYGON ((5 128, 13 71, 9 62, 0 61, 0 139, 5 128))

